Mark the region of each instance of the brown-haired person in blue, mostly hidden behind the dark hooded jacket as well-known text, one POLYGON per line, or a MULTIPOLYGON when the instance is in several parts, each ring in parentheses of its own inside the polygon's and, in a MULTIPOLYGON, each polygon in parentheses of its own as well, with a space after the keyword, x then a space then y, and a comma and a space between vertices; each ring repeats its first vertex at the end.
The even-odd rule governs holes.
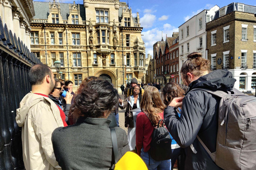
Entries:
MULTIPOLYGON (((174 83, 174 82, 169 82, 167 84, 165 84, 165 87, 162 89, 162 99, 164 101, 165 106, 167 107, 171 101, 175 98, 175 97, 183 97, 185 94, 185 91, 180 87, 179 84, 174 83)), ((181 112, 181 107, 177 108, 178 115, 180 116, 180 112, 181 112)), ((181 148, 180 146, 177 144, 177 142, 172 138, 172 169, 173 166, 178 158, 178 156, 181 155, 181 148)), ((182 155, 180 156, 182 158, 182 160, 178 160, 178 169, 184 169, 184 164, 185 164, 185 160, 183 159, 185 157, 185 152, 183 152, 182 150, 182 155), (182 163, 180 163, 180 161, 182 163)))

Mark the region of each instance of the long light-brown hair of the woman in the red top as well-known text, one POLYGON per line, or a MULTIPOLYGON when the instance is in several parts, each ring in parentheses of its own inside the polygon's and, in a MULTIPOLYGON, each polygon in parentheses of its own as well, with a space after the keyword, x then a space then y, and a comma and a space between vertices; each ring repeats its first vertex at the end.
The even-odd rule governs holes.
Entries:
POLYGON ((147 87, 141 99, 140 108, 147 114, 149 120, 154 125, 162 119, 160 113, 165 109, 157 88, 147 87))

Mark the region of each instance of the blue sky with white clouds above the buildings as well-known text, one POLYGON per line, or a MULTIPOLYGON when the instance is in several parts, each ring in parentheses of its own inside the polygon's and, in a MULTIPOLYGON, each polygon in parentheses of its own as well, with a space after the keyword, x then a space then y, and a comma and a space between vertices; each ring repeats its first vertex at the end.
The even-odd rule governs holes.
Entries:
MULTIPOLYGON (((49 0, 36 0, 42 2, 49 2, 49 0)), ((53 0, 51 0, 52 2, 53 0)), ((62 3, 73 3, 74 0, 59 0, 62 3)), ((76 0, 76 3, 83 4, 83 0, 76 0)), ((121 2, 126 2, 127 0, 121 2)), ((153 55, 153 44, 156 41, 160 41, 165 36, 172 36, 172 32, 178 32, 179 26, 190 19, 197 13, 205 10, 209 10, 214 5, 219 7, 226 6, 232 2, 244 3, 247 5, 256 6, 255 0, 243 0, 243 1, 227 1, 227 0, 129 0, 129 7, 132 8, 132 13, 139 12, 140 23, 142 30, 142 39, 146 46, 147 54, 153 55)))

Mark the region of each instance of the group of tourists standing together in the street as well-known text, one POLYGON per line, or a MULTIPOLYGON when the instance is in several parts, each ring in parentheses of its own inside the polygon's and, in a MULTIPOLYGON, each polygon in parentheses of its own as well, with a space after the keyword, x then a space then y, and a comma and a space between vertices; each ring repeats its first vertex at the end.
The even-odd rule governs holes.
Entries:
POLYGON ((219 99, 191 90, 230 91, 235 79, 226 70, 210 72, 210 62, 199 53, 188 55, 180 74, 186 86, 169 82, 161 93, 157 84, 141 88, 133 78, 122 87, 122 100, 108 81, 87 77, 74 94, 72 84, 62 86, 48 66, 34 65, 28 74, 31 92, 22 99, 16 117, 22 127, 25 168, 109 169, 114 160, 110 128, 114 128, 119 157, 136 152, 148 169, 173 169, 177 159, 178 169, 221 169, 196 138, 211 152, 216 150, 219 99), (61 101, 63 88, 67 92, 61 101), (125 109, 127 134, 118 127, 118 107, 125 109), (172 152, 171 159, 156 161, 148 151, 161 119, 173 139, 172 152))

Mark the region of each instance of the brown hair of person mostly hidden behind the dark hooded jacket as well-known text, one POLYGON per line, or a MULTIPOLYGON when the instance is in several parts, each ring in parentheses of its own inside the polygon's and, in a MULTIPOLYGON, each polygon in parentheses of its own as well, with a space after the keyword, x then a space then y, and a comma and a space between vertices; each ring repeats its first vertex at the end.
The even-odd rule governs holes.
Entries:
POLYGON ((183 97, 184 94, 185 91, 179 86, 179 84, 174 82, 165 84, 165 87, 162 89, 162 99, 165 106, 168 106, 173 98, 183 97))

